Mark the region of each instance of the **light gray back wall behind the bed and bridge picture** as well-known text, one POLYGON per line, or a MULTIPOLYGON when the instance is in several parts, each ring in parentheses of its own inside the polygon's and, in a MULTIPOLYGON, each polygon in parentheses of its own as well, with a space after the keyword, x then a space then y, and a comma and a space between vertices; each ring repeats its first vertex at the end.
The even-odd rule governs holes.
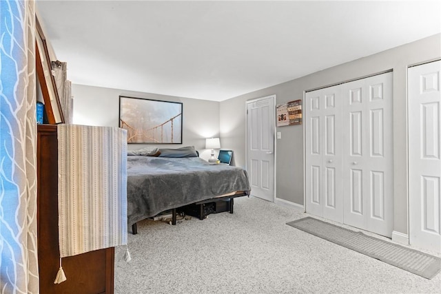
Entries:
MULTIPOLYGON (((219 103, 192 98, 148 94, 126 90, 72 85, 74 96, 73 123, 77 125, 119 126, 119 96, 150 98, 161 101, 183 103, 183 144, 150 145, 163 148, 178 148, 192 145, 201 152, 201 158, 209 158, 205 149, 205 138, 219 136, 219 103)), ((222 141, 220 142, 222 143, 222 141)), ((146 145, 130 144, 128 149, 140 149, 146 145)))

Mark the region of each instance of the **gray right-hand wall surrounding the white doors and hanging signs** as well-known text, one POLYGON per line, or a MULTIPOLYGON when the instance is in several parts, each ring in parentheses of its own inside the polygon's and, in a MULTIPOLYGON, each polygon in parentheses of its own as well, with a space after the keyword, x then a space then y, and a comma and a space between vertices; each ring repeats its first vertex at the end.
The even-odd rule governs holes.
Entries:
MULTIPOLYGON (((374 40, 372 40, 374 41, 374 40)), ((245 101, 276 94, 276 104, 303 99, 307 90, 393 70, 394 231, 407 234, 407 67, 440 59, 441 34, 402 45, 356 61, 331 67, 293 81, 220 103, 220 136, 245 166, 245 101)), ((303 125, 278 127, 276 197, 304 204, 303 125)))

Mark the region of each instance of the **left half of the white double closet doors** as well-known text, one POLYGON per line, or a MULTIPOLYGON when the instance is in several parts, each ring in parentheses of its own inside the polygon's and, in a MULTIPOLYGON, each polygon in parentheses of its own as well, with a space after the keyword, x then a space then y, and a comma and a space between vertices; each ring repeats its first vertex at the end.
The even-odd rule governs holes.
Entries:
POLYGON ((342 222, 340 86, 307 92, 306 211, 342 222))

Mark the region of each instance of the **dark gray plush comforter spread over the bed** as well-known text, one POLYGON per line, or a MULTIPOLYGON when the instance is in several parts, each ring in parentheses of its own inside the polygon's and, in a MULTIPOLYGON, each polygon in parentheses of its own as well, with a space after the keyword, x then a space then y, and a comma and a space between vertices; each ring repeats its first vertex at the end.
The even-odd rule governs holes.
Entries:
POLYGON ((198 157, 127 156, 127 223, 234 191, 250 191, 247 171, 198 157))

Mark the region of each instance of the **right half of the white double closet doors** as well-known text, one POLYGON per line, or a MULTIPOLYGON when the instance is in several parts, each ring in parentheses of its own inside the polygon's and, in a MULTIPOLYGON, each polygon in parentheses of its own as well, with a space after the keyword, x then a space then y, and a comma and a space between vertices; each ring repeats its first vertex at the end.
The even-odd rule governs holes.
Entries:
POLYGON ((344 222, 391 237, 392 73, 345 83, 342 88, 344 222))

